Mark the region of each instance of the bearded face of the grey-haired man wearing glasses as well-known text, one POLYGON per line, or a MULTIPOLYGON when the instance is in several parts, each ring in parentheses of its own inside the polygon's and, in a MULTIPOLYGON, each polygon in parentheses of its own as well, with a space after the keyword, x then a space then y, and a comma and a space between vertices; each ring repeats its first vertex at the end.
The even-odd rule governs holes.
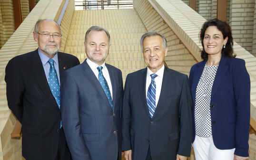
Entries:
MULTIPOLYGON (((38 26, 38 33, 60 34, 60 29, 54 21, 42 20, 38 26)), ((34 40, 38 42, 39 50, 49 58, 52 58, 60 49, 61 38, 53 38, 53 36, 43 38, 38 33, 33 32, 33 36, 34 40)))

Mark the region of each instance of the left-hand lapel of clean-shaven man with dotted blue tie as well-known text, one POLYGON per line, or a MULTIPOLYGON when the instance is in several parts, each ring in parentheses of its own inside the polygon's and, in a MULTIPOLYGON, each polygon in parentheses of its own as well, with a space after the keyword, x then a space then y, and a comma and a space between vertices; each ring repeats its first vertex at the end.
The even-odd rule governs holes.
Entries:
MULTIPOLYGON (((110 104, 108 102, 108 98, 107 98, 107 96, 106 96, 102 86, 99 84, 98 79, 96 78, 96 76, 94 75, 93 71, 89 67, 88 63, 86 62, 86 59, 82 63, 82 69, 84 70, 83 74, 90 81, 90 83, 95 87, 96 91, 101 96, 102 100, 108 106, 108 108, 111 110, 111 112, 113 112, 112 109, 111 109, 111 106, 110 106, 110 104)), ((111 83, 112 83, 112 81, 111 81, 111 83)))

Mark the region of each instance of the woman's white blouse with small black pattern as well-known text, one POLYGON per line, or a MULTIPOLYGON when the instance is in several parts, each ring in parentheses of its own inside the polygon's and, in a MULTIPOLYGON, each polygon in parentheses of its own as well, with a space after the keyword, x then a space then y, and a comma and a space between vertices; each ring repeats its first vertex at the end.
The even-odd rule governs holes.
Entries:
POLYGON ((217 66, 205 65, 203 73, 197 84, 196 105, 195 105, 195 125, 196 135, 209 137, 212 135, 211 127, 211 92, 217 66))

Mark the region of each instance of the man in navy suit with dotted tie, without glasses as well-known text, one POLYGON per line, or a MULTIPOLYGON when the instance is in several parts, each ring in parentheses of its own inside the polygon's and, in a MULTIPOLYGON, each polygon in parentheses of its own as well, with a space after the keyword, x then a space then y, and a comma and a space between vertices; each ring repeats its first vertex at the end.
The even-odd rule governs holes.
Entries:
POLYGON ((87 59, 64 72, 61 117, 73 160, 121 160, 121 71, 105 63, 108 31, 92 26, 85 35, 87 59))

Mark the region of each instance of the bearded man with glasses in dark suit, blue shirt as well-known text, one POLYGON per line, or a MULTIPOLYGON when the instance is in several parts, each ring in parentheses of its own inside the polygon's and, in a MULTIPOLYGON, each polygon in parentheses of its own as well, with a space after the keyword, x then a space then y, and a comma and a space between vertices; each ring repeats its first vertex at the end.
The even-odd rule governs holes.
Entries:
POLYGON ((8 106, 22 124, 22 155, 26 160, 70 160, 61 127, 59 77, 79 60, 59 52, 57 22, 38 20, 33 35, 39 48, 12 58, 5 75, 8 106))

